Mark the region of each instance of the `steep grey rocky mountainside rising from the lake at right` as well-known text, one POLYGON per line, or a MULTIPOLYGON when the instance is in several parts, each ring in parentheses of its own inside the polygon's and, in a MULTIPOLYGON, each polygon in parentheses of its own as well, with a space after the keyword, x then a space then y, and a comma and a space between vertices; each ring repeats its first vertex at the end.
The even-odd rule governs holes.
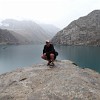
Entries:
POLYGON ((100 10, 80 17, 59 31, 52 39, 54 44, 100 46, 100 10))

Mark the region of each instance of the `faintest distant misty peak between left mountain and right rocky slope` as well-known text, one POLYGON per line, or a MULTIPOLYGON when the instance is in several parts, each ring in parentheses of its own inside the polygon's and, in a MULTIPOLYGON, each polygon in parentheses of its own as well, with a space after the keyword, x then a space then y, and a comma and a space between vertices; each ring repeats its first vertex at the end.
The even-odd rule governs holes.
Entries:
POLYGON ((53 38, 54 35, 56 35, 56 33, 58 31, 60 31, 59 28, 57 28, 56 26, 54 25, 51 25, 51 24, 39 24, 44 30, 46 33, 48 33, 49 36, 51 36, 53 38))

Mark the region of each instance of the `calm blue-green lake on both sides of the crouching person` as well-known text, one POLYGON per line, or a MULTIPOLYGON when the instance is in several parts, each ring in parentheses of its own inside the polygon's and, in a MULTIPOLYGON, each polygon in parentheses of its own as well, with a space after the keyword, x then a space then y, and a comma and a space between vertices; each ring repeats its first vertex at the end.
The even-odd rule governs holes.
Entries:
MULTIPOLYGON (((71 60, 82 68, 100 72, 100 47, 55 46, 58 60, 71 60)), ((0 74, 40 64, 43 45, 0 45, 0 74)))

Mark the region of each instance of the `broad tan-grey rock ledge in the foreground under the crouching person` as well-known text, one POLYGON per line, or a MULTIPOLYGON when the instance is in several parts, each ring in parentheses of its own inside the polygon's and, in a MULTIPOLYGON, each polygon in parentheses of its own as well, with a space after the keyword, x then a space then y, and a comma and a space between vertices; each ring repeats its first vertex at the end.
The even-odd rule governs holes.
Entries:
POLYGON ((0 75, 0 100, 100 100, 100 74, 56 61, 0 75))

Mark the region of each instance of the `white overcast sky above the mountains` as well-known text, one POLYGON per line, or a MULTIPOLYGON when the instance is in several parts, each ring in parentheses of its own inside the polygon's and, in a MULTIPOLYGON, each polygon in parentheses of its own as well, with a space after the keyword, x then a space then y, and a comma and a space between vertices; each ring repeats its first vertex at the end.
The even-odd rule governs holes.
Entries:
POLYGON ((62 29, 96 9, 100 0, 0 0, 0 20, 33 20, 62 29))

